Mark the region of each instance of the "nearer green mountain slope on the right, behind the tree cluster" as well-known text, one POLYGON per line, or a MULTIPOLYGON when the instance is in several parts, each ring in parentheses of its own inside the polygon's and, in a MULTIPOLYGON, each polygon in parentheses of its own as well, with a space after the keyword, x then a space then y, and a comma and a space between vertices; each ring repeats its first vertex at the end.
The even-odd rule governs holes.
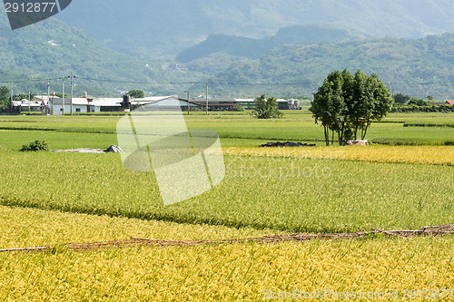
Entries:
POLYGON ((219 94, 311 95, 334 69, 377 73, 395 93, 454 96, 454 34, 422 39, 372 39, 285 45, 260 60, 233 63, 212 78, 219 94), (249 84, 255 83, 255 84, 249 84))

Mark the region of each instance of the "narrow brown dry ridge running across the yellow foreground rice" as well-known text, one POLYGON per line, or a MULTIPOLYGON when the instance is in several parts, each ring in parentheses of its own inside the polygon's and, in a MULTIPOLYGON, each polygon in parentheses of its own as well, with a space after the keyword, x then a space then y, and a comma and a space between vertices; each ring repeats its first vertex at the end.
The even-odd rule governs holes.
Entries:
MULTIPOLYGON (((143 239, 132 237, 130 239, 113 240, 104 242, 92 243, 71 243, 65 245, 64 248, 73 250, 97 250, 101 248, 136 248, 136 247, 194 247, 202 245, 220 245, 232 243, 247 243, 255 242, 261 244, 278 243, 284 241, 306 241, 313 239, 326 240, 345 240, 345 239, 411 239, 414 237, 429 237, 454 235, 454 224, 431 226, 422 229, 398 229, 398 230, 383 230, 372 229, 370 231, 361 231, 356 233, 341 233, 341 234, 286 234, 274 235, 261 238, 247 239, 222 239, 222 240, 161 240, 161 239, 143 239)), ((5 248, 0 249, 0 252, 21 252, 21 251, 43 251, 54 248, 52 246, 44 246, 37 248, 5 248)))

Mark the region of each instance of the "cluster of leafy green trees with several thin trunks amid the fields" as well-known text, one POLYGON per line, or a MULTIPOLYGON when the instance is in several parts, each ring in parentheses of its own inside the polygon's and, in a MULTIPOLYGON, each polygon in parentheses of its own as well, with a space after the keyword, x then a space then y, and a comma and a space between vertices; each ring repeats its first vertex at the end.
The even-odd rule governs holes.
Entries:
POLYGON ((335 133, 341 145, 345 140, 364 140, 370 123, 380 121, 393 102, 389 89, 375 73, 368 76, 358 70, 353 76, 345 69, 328 75, 314 94, 310 111, 323 126, 326 145, 334 143, 335 133))

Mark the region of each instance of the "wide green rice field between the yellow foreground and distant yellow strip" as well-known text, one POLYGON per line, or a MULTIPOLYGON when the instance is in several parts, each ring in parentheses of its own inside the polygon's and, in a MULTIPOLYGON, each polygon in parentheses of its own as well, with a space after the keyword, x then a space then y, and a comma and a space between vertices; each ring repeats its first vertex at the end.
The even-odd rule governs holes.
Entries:
POLYGON ((290 232, 420 229, 454 220, 447 165, 225 156, 213 190, 163 207, 118 154, 0 152, 0 204, 290 232))

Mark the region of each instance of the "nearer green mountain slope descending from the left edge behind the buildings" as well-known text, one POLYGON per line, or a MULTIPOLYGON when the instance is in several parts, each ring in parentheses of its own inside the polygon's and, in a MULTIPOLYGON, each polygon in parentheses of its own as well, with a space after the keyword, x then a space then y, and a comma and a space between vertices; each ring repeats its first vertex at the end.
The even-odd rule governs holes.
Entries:
MULTIPOLYGON (((43 79, 54 79, 51 91, 61 92, 62 80, 57 78, 71 73, 76 76, 74 93, 79 95, 86 91, 113 96, 131 89, 178 93, 178 87, 165 83, 192 78, 169 65, 171 61, 166 59, 143 60, 114 52, 54 18, 11 31, 5 13, 0 13, 0 85, 16 93, 28 92, 29 86, 33 93, 47 93, 47 81, 43 79)), ((66 91, 68 87, 66 81, 66 91)))

